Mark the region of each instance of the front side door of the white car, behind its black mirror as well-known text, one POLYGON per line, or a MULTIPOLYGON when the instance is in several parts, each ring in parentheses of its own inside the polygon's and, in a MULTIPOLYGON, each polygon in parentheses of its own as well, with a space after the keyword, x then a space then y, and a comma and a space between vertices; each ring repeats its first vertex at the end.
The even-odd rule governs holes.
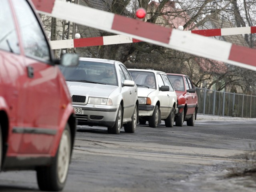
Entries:
MULTIPOLYGON (((161 74, 157 74, 157 81, 158 81, 158 86, 159 88, 164 84, 164 80, 161 76, 161 74)), ((159 90, 159 89, 158 89, 159 90)), ((170 96, 169 96, 169 91, 158 91, 158 98, 160 101, 160 110, 161 110, 161 117, 166 117, 170 113, 170 96)))

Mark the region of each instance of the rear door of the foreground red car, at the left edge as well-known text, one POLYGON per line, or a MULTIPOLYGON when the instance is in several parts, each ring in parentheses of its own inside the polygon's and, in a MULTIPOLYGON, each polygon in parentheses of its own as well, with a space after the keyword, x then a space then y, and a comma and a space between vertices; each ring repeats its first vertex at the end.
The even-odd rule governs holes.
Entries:
POLYGON ((9 0, 1 0, 0 26, 0 108, 6 110, 10 122, 8 153, 16 154, 22 133, 15 132, 14 129, 23 126, 26 82, 22 77, 26 68, 9 0))

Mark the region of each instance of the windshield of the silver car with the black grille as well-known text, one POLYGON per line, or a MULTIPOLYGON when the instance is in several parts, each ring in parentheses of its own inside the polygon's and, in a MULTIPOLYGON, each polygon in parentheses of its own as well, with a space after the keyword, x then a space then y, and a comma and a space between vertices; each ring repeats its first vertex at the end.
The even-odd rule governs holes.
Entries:
POLYGON ((63 67, 60 70, 66 81, 118 85, 116 70, 113 64, 79 61, 76 67, 63 67))

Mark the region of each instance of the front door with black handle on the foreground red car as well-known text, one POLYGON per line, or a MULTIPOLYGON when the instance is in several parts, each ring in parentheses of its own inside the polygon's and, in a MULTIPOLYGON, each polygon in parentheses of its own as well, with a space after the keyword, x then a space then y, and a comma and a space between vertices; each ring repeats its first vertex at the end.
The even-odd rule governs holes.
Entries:
POLYGON ((19 153, 45 154, 57 134, 60 109, 58 70, 50 65, 51 53, 42 27, 25 0, 12 0, 20 28, 23 61, 26 68, 21 82, 26 82, 23 95, 26 106, 20 114, 23 126, 19 153))

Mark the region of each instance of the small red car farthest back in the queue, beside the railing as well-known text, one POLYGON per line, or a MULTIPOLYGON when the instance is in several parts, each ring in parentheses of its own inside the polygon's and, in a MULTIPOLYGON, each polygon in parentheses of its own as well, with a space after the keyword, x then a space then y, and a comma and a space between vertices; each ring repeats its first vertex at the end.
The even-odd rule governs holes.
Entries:
POLYGON ((175 125, 183 126, 186 121, 188 126, 194 126, 198 109, 198 96, 190 77, 184 74, 167 74, 177 94, 177 108, 175 125))

